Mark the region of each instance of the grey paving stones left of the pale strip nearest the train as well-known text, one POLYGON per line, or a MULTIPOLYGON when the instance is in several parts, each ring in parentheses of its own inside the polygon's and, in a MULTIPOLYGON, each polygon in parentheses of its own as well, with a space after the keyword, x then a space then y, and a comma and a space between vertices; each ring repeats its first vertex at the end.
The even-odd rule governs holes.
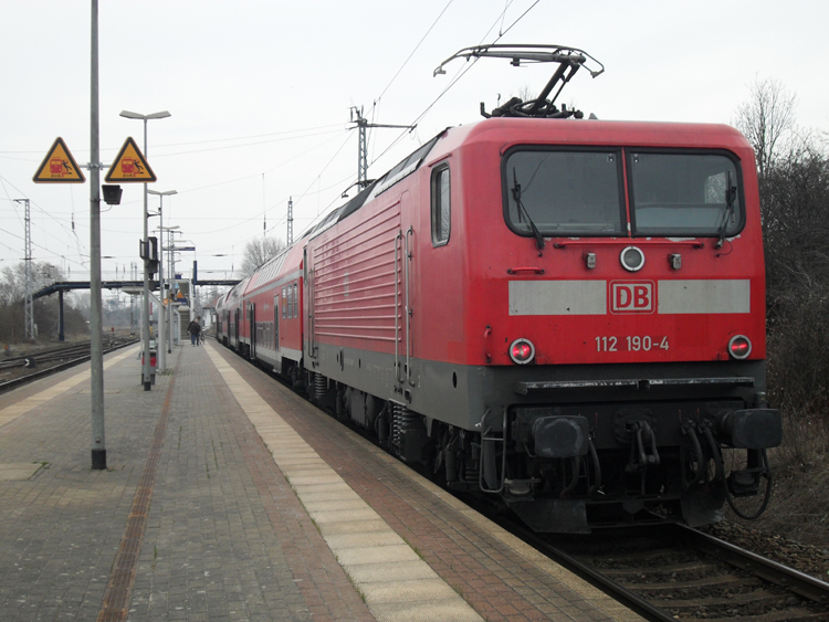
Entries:
POLYGON ((105 372, 106 471, 91 470, 86 379, 0 426, 0 621, 365 620, 374 618, 276 468, 203 348, 174 352, 153 391, 132 356, 105 372), (175 378, 174 391, 168 394, 175 378), (168 400, 127 608, 104 594, 168 400))

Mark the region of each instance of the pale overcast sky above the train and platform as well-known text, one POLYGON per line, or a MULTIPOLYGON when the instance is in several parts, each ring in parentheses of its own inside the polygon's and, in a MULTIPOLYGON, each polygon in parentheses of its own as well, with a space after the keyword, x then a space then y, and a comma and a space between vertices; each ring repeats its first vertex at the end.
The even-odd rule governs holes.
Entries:
MULTIPOLYGON (((59 136, 78 164, 90 158, 90 2, 2 0, 1 14, 0 267, 23 259, 13 200, 27 198, 35 261, 86 280, 88 175, 72 186, 32 177, 59 136)), ((505 32, 500 43, 587 51, 606 73, 579 73, 563 98, 602 119, 730 123, 749 84, 774 78, 797 95, 799 126, 827 130, 827 23, 822 0, 101 0, 102 160, 128 136, 143 148, 141 122, 120 110, 169 110, 148 124, 150 188, 178 192, 164 211, 196 245, 182 261, 230 277, 263 222, 284 240, 288 197, 295 238, 342 203, 357 177, 351 106, 375 123, 419 119, 412 133, 370 135, 375 178, 444 127, 480 119, 480 102, 537 93, 550 75, 485 59, 439 98, 463 62, 432 71, 461 48, 505 32)), ((141 185, 124 188, 102 215, 105 278, 138 261, 141 185)))

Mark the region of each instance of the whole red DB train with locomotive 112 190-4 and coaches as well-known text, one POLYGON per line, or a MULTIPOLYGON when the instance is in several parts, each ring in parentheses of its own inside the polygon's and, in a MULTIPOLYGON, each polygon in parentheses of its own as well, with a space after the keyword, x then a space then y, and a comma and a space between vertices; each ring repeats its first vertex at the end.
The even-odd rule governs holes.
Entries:
MULTIPOLYGON (((550 84, 586 60, 542 53, 570 71, 550 84)), ((217 339, 536 531, 700 526, 765 495, 753 518, 783 435, 754 151, 550 88, 367 183, 221 297, 217 339)))

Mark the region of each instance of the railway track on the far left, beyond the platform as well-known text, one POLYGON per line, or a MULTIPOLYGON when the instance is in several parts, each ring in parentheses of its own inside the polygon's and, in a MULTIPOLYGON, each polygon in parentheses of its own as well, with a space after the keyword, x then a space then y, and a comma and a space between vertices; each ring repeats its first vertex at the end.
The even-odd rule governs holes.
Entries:
MULTIPOLYGON (((104 354, 137 341, 136 338, 125 337, 106 339, 104 354)), ((90 347, 86 341, 0 360, 0 393, 90 360, 90 347)))

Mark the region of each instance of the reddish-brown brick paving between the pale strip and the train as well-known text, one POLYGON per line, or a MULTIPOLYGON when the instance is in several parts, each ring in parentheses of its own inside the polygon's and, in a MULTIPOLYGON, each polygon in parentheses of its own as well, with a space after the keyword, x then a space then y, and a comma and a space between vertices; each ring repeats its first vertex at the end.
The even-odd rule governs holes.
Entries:
MULTIPOLYGON (((227 349, 214 347, 350 488, 369 503, 382 519, 378 530, 389 525, 489 622, 640 620, 327 414, 308 408, 305 400, 286 391, 259 368, 227 349)), ((351 510, 339 514, 348 512, 351 510)), ((340 534, 347 535, 360 530, 360 523, 335 525, 342 526, 340 534)), ((326 538, 329 534, 326 533, 326 538)), ((410 579, 406 563, 400 562, 393 570, 401 581, 410 579)), ((371 578, 363 577, 360 570, 349 569, 349 572, 355 579, 371 578)), ((370 572, 368 568, 365 571, 370 572)))

